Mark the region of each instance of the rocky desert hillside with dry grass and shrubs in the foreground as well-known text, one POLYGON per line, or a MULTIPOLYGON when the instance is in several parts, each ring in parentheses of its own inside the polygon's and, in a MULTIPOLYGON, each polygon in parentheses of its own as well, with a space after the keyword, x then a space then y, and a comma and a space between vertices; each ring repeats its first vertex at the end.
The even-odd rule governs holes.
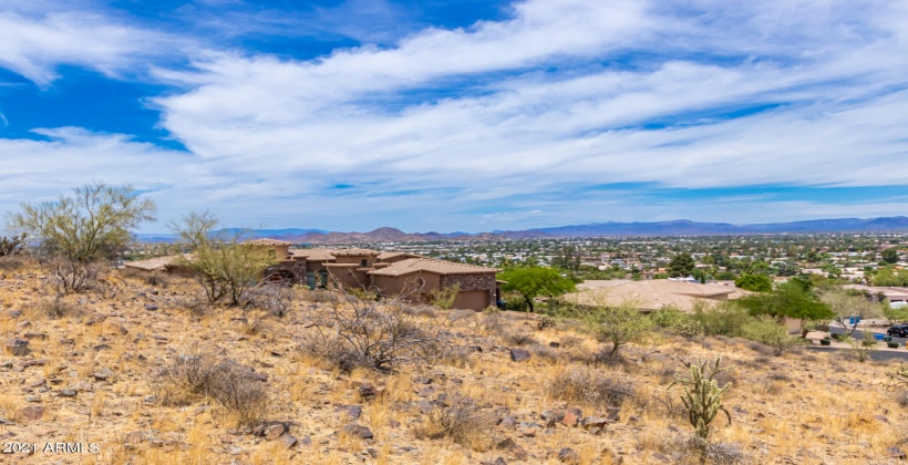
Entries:
POLYGON ((698 463, 672 383, 718 356, 731 423, 713 421, 710 463, 890 463, 908 451, 905 386, 887 376, 897 363, 848 350, 775 356, 653 331, 609 358, 568 319, 301 289, 208 307, 190 279, 117 271, 58 298, 43 273, 27 260, 0 270, 0 438, 38 446, 3 463, 698 463), (371 312, 363 328, 396 327, 352 341, 409 345, 384 348, 380 369, 351 361, 331 318, 354 311, 371 312))

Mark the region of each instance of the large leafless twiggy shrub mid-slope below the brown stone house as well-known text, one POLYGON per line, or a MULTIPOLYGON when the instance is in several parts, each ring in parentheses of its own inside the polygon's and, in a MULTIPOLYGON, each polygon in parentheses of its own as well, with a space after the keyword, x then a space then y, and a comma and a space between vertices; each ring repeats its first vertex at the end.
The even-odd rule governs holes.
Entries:
POLYGON ((462 350, 441 324, 426 324, 409 312, 407 296, 382 302, 347 297, 310 312, 314 332, 303 338, 303 351, 341 369, 389 371, 401 364, 433 363, 462 350), (313 347, 319 343, 330 347, 331 353, 313 347))

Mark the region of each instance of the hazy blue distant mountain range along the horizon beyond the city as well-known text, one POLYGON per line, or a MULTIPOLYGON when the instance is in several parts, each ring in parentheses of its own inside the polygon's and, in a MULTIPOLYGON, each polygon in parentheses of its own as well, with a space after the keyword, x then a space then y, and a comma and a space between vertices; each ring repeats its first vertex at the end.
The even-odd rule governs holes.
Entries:
MULTIPOLYGON (((730 223, 697 223, 687 219, 653 223, 591 223, 588 225, 559 226, 526 230, 494 230, 491 232, 404 232, 395 228, 379 228, 369 232, 338 232, 323 229, 224 229, 223 232, 245 232, 252 237, 269 237, 295 244, 341 242, 404 242, 424 240, 475 240, 475 239, 532 239, 576 238, 610 236, 723 236, 750 234, 803 234, 803 232, 897 232, 908 231, 908 217, 814 219, 793 223, 766 223, 733 225, 730 223)), ((173 235, 140 234, 145 242, 171 242, 173 235)))

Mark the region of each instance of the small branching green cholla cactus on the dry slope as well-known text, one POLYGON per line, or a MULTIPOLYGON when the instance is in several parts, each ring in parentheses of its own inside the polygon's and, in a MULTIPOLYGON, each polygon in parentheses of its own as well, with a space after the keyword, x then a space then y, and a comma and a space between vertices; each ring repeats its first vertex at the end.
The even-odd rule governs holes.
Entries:
POLYGON ((712 364, 709 360, 691 363, 689 365, 690 376, 678 376, 669 386, 671 389, 675 384, 681 384, 684 388, 681 402, 688 410, 688 420, 694 427, 695 440, 701 445, 706 444, 710 436, 710 423, 715 420, 720 411, 725 412, 729 423, 732 421, 732 415, 722 405, 722 393, 731 386, 731 383, 720 388, 715 381, 715 375, 725 371, 720 368, 721 361, 720 356, 712 364))

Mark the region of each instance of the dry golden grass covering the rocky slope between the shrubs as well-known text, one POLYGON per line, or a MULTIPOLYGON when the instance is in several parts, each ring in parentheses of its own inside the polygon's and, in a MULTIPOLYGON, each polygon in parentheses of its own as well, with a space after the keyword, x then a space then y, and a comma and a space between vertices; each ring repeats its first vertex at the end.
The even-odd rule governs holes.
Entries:
MULTIPOLYGON (((166 282, 165 287, 152 286, 142 276, 120 277, 105 281, 114 287, 113 297, 111 292, 66 296, 64 302, 79 310, 51 318, 41 307, 50 296, 35 265, 6 275, 0 280, 2 340, 24 333, 45 333, 48 339, 34 338, 30 343, 33 352, 28 359, 41 359, 43 365, 18 370, 14 366, 22 358, 0 353, 0 365, 11 362, 13 366, 0 368, 0 417, 16 423, 0 424, 0 436, 6 441, 14 433, 16 441, 40 444, 100 444, 99 454, 60 457, 70 463, 473 464, 501 456, 508 463, 522 458, 554 464, 560 463, 557 453, 565 447, 576 452, 581 464, 664 463, 665 458, 682 463, 693 458, 683 455, 677 440, 687 437, 691 427, 679 415, 679 389, 668 388, 675 374, 683 374, 682 360, 719 355, 733 366, 728 378, 732 388, 725 395, 733 422, 716 420, 712 437, 736 447, 742 463, 886 463, 888 447, 908 450, 908 434, 902 433, 908 411, 896 400, 908 386, 885 381, 892 363, 861 364, 809 350, 767 358, 740 340, 708 338, 698 343, 671 337, 626 348, 622 363, 594 363, 600 343, 569 323, 539 331, 523 314, 448 318, 436 311, 435 317, 419 317, 421 322, 460 333, 464 345, 481 347, 482 352, 467 351, 434 366, 401 366, 391 373, 363 369, 341 373, 297 349, 300 338, 311 331, 306 312, 320 304, 307 296, 317 293, 298 292, 282 319, 225 307, 199 314, 185 304, 198 293, 192 280, 156 281, 166 282), (146 303, 159 309, 146 310, 146 303), (12 319, 10 309, 24 314, 12 319), (19 326, 25 319, 31 326, 19 326), (514 334, 526 338, 515 341, 514 334), (510 361, 507 350, 515 342, 534 353, 528 362, 510 361), (560 348, 549 348, 549 342, 560 348), (254 436, 237 428, 237 418, 204 395, 183 405, 163 404, 166 386, 155 375, 176 356, 202 350, 266 375, 262 385, 271 400, 268 418, 292 423, 290 434, 309 444, 288 450, 280 441, 254 436), (104 369, 112 375, 95 380, 93 373, 104 369), (633 394, 612 402, 571 391, 577 386, 553 390, 570 372, 588 373, 592 381, 628 383, 633 394), (361 400, 359 386, 365 382, 383 394, 361 400), (63 389, 74 389, 78 395, 58 395, 63 389), (29 396, 40 402, 29 402, 29 396), (456 441, 450 434, 416 437, 421 427, 437 420, 433 412, 458 397, 473 400, 477 412, 492 421, 472 424, 468 434, 456 441), (336 404, 361 405, 362 415, 351 418, 336 404), (43 417, 24 421, 21 411, 29 405, 44 406, 43 417), (599 435, 561 424, 545 427, 540 418, 543 412, 568 407, 579 407, 585 416, 606 417, 608 406, 620 407, 620 414, 599 435), (516 424, 496 425, 506 416, 516 424), (374 437, 344 433, 350 423, 369 427, 374 437), (505 440, 518 448, 498 448, 505 440)), ((49 462, 40 454, 20 458, 49 462)))

